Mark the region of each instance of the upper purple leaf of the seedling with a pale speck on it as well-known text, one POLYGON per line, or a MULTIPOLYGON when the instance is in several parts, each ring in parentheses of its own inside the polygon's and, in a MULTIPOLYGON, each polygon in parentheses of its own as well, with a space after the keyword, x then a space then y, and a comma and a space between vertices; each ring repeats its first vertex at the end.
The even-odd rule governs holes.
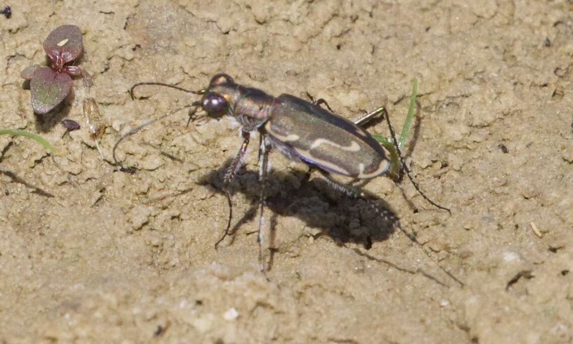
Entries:
POLYGON ((60 57, 60 68, 80 57, 83 49, 81 31, 76 25, 58 26, 50 32, 44 41, 44 50, 46 50, 52 63, 58 61, 58 57, 60 57))

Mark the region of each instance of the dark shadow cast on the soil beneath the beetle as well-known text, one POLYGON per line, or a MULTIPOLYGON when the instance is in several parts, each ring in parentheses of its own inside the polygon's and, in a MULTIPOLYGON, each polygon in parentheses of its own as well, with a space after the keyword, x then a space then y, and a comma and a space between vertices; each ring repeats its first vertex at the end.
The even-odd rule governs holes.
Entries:
MULTIPOLYGON (((222 190, 222 176, 227 171, 231 159, 227 160, 217 170, 203 175, 197 181, 200 185, 210 185, 220 194, 222 190)), ((300 186, 281 181, 293 178, 292 172, 272 171, 268 174, 266 188, 266 207, 270 209, 269 243, 273 251, 274 236, 276 234, 278 216, 294 216, 314 229, 311 234, 315 239, 320 236, 329 236, 337 245, 355 243, 370 249, 372 243, 387 240, 394 233, 394 222, 380 216, 383 212, 395 218, 393 210, 388 203, 374 194, 364 191, 367 198, 354 198, 341 191, 335 190, 326 179, 308 179, 299 174, 300 186)), ((242 169, 230 185, 231 194, 242 193, 247 198, 249 209, 234 217, 229 230, 230 240, 226 245, 233 244, 237 230, 246 222, 253 221, 258 216, 260 187, 252 187, 252 181, 258 181, 258 172, 242 169)), ((272 256, 271 256, 272 257, 272 256)))

